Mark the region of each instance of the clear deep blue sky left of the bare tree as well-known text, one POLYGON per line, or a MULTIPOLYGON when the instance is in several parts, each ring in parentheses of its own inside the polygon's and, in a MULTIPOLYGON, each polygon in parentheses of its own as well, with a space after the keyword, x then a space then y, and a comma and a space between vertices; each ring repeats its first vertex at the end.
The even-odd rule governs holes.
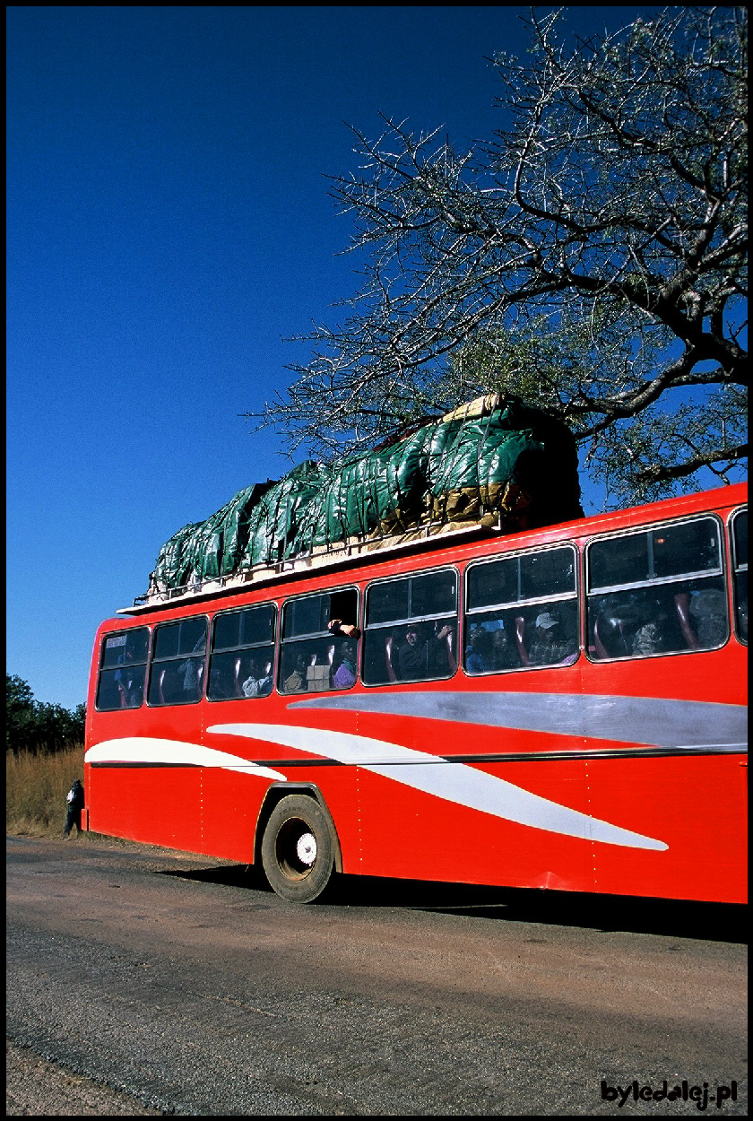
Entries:
POLYGON ((489 136, 486 58, 524 53, 527 11, 8 9, 8 670, 38 700, 84 701, 160 545, 291 466, 240 414, 357 287, 345 122, 489 136))

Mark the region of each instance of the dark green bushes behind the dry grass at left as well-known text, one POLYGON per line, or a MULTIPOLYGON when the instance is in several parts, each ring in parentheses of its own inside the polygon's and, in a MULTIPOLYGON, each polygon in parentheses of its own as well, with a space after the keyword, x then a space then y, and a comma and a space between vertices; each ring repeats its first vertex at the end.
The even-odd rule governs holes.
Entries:
POLYGON ((86 706, 73 712, 36 701, 27 682, 6 674, 6 751, 49 752, 84 742, 86 706))

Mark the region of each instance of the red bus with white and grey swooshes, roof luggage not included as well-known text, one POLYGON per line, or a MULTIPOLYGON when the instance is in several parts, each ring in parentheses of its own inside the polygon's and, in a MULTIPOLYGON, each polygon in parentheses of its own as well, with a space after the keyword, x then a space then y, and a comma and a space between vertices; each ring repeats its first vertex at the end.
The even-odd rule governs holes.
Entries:
POLYGON ((741 902, 746 500, 137 601, 94 646, 87 827, 301 902, 333 872, 741 902))

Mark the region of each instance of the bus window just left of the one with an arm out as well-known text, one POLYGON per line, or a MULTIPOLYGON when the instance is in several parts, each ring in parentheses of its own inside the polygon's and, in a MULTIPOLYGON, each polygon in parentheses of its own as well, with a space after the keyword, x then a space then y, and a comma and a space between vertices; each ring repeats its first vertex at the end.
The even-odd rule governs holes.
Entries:
POLYGON ((210 656, 210 701, 263 697, 272 692, 273 603, 215 615, 210 656))

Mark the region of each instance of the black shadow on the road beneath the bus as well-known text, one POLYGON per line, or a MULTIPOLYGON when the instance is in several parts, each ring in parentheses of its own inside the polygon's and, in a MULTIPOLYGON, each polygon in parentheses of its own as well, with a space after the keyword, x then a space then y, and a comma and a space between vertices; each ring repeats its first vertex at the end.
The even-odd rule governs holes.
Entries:
MULTIPOLYGON (((159 874, 271 892, 255 865, 164 869, 159 874)), ((398 907, 482 919, 588 927, 605 933, 624 930, 747 944, 747 908, 734 904, 340 876, 316 906, 398 907)))

